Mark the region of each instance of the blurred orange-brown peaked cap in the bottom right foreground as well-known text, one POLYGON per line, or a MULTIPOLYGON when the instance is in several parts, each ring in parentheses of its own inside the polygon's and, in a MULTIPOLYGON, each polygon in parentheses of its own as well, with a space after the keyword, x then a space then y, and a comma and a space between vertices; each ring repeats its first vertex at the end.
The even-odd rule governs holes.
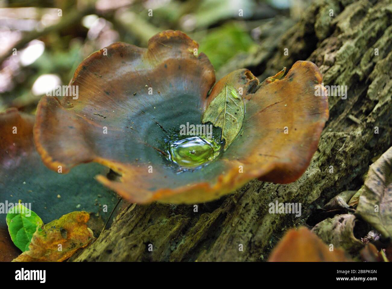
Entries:
POLYGON ((344 251, 329 247, 307 228, 291 229, 272 251, 269 262, 343 262, 344 251))

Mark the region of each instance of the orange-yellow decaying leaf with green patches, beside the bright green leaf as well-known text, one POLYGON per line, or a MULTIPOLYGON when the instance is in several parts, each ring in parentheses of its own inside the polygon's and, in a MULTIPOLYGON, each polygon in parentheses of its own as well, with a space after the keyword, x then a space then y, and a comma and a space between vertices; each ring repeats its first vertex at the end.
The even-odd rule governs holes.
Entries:
POLYGON ((89 213, 75 211, 49 222, 44 229, 34 233, 29 251, 13 261, 61 262, 68 259, 93 238, 93 232, 86 224, 89 219, 89 213))

